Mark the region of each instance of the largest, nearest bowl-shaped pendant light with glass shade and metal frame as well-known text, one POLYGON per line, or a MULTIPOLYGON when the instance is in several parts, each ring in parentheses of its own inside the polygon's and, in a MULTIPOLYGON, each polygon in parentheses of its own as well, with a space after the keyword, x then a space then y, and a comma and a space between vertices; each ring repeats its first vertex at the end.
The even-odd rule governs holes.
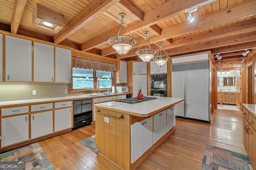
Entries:
POLYGON ((124 56, 126 53, 128 53, 130 49, 132 49, 132 47, 134 46, 134 44, 136 44, 137 41, 134 37, 132 37, 130 31, 125 26, 125 22, 123 21, 123 19, 126 17, 126 14, 120 13, 119 17, 122 18, 122 21, 120 21, 120 27, 116 35, 108 39, 108 43, 112 45, 112 48, 115 49, 118 54, 120 54, 121 56, 124 56), (121 27, 122 27, 122 34, 123 34, 123 27, 125 27, 128 33, 130 34, 130 36, 118 35, 121 27))

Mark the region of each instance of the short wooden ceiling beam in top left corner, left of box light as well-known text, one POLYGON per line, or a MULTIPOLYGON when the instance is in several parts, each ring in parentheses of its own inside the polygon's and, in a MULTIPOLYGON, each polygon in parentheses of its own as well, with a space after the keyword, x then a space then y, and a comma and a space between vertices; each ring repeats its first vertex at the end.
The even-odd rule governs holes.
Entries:
POLYGON ((15 0, 12 12, 11 33, 17 33, 27 0, 15 0))

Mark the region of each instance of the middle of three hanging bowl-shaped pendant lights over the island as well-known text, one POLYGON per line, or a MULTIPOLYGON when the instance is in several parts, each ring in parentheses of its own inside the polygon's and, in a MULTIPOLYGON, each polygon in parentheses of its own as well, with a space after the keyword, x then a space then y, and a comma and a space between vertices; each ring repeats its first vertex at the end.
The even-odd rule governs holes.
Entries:
POLYGON ((142 59, 142 61, 148 62, 154 57, 154 55, 157 53, 157 50, 152 49, 148 42, 148 37, 147 37, 148 31, 144 31, 143 33, 146 35, 146 37, 144 37, 144 40, 142 41, 140 47, 142 46, 144 41, 146 41, 146 45, 144 49, 140 49, 139 47, 138 50, 136 51, 136 54, 138 55, 138 57, 142 59))

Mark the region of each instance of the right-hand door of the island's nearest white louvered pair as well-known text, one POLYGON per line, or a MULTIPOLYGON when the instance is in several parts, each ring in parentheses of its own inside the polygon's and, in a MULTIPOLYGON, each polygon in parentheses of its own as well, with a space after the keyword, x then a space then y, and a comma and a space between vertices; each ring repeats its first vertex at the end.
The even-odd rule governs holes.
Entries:
POLYGON ((144 152, 146 152, 150 147, 153 145, 153 117, 149 117, 144 119, 144 129, 143 129, 143 135, 144 135, 144 152))

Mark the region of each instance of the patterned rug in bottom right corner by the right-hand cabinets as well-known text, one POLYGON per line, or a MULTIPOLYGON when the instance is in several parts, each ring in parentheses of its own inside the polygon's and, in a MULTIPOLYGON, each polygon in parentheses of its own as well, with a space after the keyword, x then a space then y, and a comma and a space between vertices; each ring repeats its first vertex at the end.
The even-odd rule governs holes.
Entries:
POLYGON ((246 154, 206 144, 201 170, 252 170, 246 154))

